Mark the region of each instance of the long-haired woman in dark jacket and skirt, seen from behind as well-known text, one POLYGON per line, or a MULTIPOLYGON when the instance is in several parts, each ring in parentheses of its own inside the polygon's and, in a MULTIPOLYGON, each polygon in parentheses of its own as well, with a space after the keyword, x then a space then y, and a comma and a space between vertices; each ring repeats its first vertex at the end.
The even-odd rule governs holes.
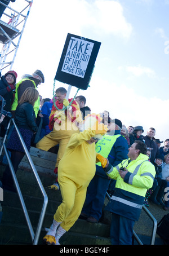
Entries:
MULTIPOLYGON (((37 131, 33 105, 38 99, 38 96, 39 93, 36 89, 33 87, 28 87, 21 96, 15 112, 15 123, 21 133, 21 136, 23 137, 28 151, 30 150, 30 142, 33 133, 37 131)), ((16 173, 25 152, 15 128, 12 130, 10 139, 8 140, 7 149, 11 151, 11 162, 16 173)), ((2 184, 3 189, 16 192, 9 166, 6 167, 6 170, 3 173, 2 184)))

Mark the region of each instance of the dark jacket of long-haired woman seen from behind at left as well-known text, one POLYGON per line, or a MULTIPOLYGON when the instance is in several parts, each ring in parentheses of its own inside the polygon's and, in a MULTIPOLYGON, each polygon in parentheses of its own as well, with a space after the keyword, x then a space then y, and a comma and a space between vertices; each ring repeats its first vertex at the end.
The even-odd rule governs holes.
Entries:
POLYGON ((15 111, 15 123, 19 128, 32 130, 33 133, 37 131, 35 113, 30 103, 25 102, 17 106, 15 111))

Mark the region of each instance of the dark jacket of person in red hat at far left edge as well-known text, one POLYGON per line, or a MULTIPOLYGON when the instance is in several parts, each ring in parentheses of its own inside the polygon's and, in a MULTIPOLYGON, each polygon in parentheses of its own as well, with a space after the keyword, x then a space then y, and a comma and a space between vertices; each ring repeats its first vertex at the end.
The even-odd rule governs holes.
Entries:
POLYGON ((11 105, 14 100, 14 92, 8 92, 6 89, 7 87, 8 82, 6 81, 5 76, 2 76, 0 80, 0 95, 6 100, 6 105, 3 109, 5 111, 11 111, 11 105))

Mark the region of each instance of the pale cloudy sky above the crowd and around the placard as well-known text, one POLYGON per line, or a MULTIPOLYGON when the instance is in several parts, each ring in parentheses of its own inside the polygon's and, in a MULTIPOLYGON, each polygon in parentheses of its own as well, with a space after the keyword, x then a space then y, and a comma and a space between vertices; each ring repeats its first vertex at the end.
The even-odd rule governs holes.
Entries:
MULTIPOLYGON (((16 0, 15 8, 24 0, 16 0)), ((16 8, 17 10, 18 8, 16 8)), ((156 129, 169 138, 169 1, 34 0, 13 69, 17 81, 41 69, 43 98, 54 78, 68 33, 101 42, 90 87, 80 90, 94 113, 109 111, 126 126, 156 129)), ((55 83, 57 87, 64 83, 55 83)), ((70 97, 77 91, 73 87, 70 97)))

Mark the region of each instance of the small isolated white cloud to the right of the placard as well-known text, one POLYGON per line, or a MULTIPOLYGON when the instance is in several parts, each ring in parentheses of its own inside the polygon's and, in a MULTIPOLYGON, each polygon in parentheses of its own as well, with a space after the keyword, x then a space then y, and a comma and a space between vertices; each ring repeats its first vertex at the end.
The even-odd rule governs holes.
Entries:
POLYGON ((133 66, 128 66, 126 67, 127 72, 133 74, 136 77, 140 77, 143 75, 146 75, 148 77, 155 77, 155 72, 153 69, 148 68, 148 67, 143 67, 141 65, 137 65, 136 67, 133 66))

